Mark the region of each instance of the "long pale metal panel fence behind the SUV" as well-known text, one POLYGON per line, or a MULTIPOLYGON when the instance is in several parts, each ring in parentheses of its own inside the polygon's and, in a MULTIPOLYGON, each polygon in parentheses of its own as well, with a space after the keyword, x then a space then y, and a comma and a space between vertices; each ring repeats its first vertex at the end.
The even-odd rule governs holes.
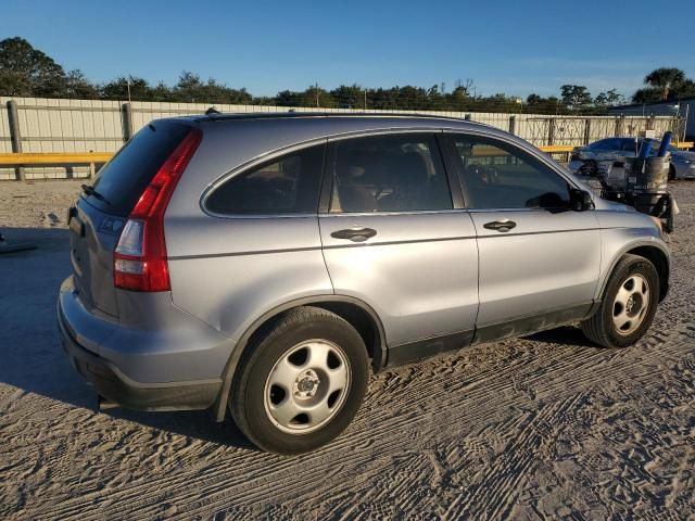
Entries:
MULTIPOLYGON (((202 114, 208 103, 122 102, 1 98, 0 153, 115 152, 152 119, 202 114)), ((684 120, 674 116, 557 116, 438 111, 361 111, 267 105, 214 105, 220 112, 389 112, 457 117, 497 127, 540 145, 581 145, 606 137, 657 135, 672 130, 682 138, 684 120)), ((86 166, 25 167, 27 179, 89 177, 86 166)), ((0 168, 0 180, 15 179, 16 169, 0 168)))

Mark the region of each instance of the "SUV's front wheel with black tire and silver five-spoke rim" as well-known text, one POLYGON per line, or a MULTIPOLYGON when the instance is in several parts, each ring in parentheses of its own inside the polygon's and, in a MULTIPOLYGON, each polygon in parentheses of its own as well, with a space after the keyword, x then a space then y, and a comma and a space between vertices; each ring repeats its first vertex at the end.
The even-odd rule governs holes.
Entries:
POLYGON ((610 275, 599 308, 581 322, 582 332, 601 346, 628 347, 649 329, 658 303, 654 265, 639 255, 624 255, 610 275))

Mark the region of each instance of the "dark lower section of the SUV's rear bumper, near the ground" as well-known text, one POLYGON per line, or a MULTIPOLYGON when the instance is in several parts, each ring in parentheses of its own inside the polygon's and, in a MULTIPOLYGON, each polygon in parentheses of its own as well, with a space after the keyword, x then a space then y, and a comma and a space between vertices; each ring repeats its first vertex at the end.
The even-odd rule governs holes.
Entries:
MULTIPOLYGON (((58 301, 58 328, 63 348, 71 364, 97 394, 135 410, 206 409, 217 398, 222 379, 181 382, 138 382, 127 377, 111 360, 98 355, 77 340, 80 335, 64 313, 62 300, 58 301)), ((139 355, 141 364, 148 364, 147 355, 139 355)), ((137 363, 137 360, 132 360, 137 363)))

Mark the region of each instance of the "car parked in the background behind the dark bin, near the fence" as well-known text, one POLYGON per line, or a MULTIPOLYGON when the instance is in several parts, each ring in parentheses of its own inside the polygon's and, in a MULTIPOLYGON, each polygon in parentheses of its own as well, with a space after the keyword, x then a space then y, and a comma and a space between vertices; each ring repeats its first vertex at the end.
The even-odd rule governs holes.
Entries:
MULTIPOLYGON (((635 157, 643 141, 644 138, 607 138, 586 147, 577 147, 572 151, 569 169, 584 176, 601 177, 612 185, 610 179, 621 177, 626 157, 635 157), (614 173, 614 169, 617 171, 614 173)), ((652 141, 652 155, 656 155, 660 141, 652 141)), ((668 150, 671 153, 669 180, 695 179, 695 152, 679 150, 674 145, 668 150)))

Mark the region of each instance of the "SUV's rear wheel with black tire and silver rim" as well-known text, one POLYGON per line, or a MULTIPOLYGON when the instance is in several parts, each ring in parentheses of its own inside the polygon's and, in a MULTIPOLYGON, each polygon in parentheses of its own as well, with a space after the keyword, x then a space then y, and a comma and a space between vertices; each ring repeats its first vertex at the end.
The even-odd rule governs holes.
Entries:
POLYGON ((303 306, 254 336, 229 403, 239 429, 257 447, 283 455, 334 440, 367 389, 369 360, 359 333, 338 315, 303 306))

